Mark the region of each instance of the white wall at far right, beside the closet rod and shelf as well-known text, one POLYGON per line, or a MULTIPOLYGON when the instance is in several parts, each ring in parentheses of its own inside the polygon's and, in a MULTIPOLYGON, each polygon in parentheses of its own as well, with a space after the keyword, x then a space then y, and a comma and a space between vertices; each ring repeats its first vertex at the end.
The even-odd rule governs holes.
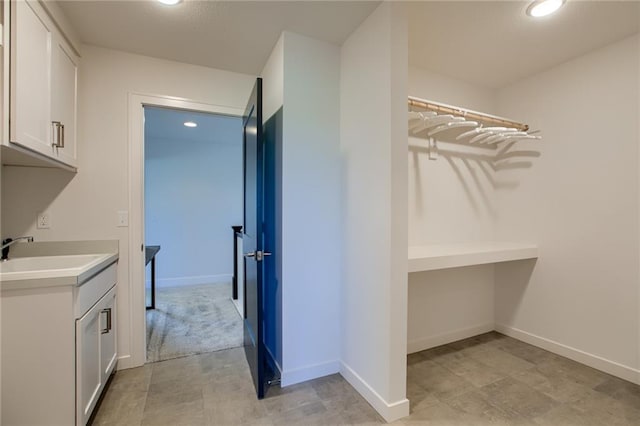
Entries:
POLYGON ((506 172, 501 238, 540 258, 496 270, 499 329, 640 382, 640 43, 632 37, 498 92, 502 113, 542 130, 520 150, 542 156, 506 172))

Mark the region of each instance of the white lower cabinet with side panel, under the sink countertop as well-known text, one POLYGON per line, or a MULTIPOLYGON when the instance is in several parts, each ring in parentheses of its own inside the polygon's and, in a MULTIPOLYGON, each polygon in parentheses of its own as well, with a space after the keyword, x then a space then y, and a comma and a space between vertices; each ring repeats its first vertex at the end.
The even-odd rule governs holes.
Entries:
POLYGON ((0 424, 87 424, 116 366, 116 268, 79 286, 2 288, 0 424))

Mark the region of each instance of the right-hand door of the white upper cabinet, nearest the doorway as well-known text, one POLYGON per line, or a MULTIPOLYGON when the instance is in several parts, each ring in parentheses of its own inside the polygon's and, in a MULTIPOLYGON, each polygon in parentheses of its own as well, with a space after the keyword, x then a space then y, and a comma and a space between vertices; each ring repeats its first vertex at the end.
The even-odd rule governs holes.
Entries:
POLYGON ((78 64, 61 37, 54 36, 51 52, 52 142, 58 160, 76 166, 76 99, 78 64), (60 126, 58 131, 57 126, 60 126))

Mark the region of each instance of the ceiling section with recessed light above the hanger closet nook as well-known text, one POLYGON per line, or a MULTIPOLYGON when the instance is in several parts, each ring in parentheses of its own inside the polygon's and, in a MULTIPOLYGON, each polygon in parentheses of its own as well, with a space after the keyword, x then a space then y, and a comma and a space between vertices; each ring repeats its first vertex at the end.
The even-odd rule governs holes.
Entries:
POLYGON ((640 1, 567 0, 540 19, 529 3, 410 3, 409 63, 499 88, 640 31, 640 1))

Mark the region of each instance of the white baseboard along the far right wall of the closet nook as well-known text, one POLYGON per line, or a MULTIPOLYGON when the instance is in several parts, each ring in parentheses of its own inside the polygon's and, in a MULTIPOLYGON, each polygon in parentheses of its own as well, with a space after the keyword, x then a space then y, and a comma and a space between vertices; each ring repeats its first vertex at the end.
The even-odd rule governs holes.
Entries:
POLYGON ((495 330, 509 337, 513 337, 514 339, 522 340, 525 343, 529 343, 548 350, 549 352, 553 352, 581 364, 588 365, 589 367, 593 367, 597 370, 604 371, 605 373, 609 373, 613 376, 640 385, 640 370, 504 324, 496 324, 495 330))

